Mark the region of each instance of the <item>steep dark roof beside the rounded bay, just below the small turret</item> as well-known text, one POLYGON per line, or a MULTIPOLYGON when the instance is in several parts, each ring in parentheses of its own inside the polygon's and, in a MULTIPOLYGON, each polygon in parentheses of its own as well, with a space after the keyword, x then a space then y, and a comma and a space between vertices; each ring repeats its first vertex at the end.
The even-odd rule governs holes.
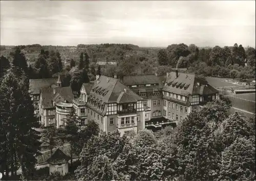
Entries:
MULTIPOLYGON (((42 98, 42 107, 43 108, 52 108, 53 106, 53 99, 55 94, 53 94, 52 87, 45 87, 41 88, 41 98, 42 98)), ((64 99, 67 100, 68 103, 72 103, 74 96, 71 87, 56 87, 55 88, 56 94, 60 94, 64 99)))

